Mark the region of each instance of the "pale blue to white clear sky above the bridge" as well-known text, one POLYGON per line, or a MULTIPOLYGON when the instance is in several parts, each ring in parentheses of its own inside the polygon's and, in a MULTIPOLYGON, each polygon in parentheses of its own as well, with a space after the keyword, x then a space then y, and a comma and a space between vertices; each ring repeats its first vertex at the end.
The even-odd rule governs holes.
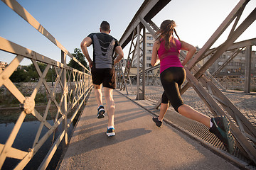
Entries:
MULTIPOLYGON (((238 2, 239 0, 172 0, 151 20, 157 26, 166 19, 174 20, 181 40, 203 47, 238 2)), ((102 21, 110 23, 110 35, 119 40, 143 1, 18 0, 18 3, 26 8, 65 49, 73 53, 75 48, 80 48, 80 42, 87 35, 100 31, 102 21)), ((256 0, 251 0, 245 7, 238 24, 255 7, 256 0)), ((226 40, 230 29, 231 26, 213 44, 213 47, 226 40)), ((256 38, 255 30, 256 21, 235 42, 256 38)), ((2 1, 0 1, 0 36, 60 62, 60 49, 2 1)), ((255 46, 252 50, 256 50, 255 46)), ((128 52, 129 45, 124 47, 124 58, 127 58, 128 52)), ((92 57, 92 47, 89 47, 89 53, 92 57)), ((0 50, 0 61, 9 63, 14 57, 15 55, 0 50)), ((25 59, 21 64, 31 64, 31 61, 25 59)))

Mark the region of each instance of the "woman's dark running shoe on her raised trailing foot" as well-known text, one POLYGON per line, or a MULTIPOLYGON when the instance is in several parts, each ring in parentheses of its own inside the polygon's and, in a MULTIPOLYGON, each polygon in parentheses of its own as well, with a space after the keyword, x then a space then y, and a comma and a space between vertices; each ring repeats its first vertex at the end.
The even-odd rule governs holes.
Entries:
POLYGON ((220 116, 217 118, 211 118, 213 127, 209 129, 210 132, 216 135, 218 139, 223 142, 225 148, 232 154, 235 149, 235 138, 230 132, 230 122, 227 117, 220 116))

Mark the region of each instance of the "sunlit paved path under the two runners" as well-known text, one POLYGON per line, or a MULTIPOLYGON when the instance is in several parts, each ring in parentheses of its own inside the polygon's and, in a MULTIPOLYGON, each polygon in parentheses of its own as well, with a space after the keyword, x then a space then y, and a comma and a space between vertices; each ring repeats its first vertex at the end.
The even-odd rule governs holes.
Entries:
POLYGON ((96 118, 92 93, 60 169, 238 169, 170 125, 156 127, 151 113, 118 91, 114 101, 116 136, 105 134, 107 118, 96 118))

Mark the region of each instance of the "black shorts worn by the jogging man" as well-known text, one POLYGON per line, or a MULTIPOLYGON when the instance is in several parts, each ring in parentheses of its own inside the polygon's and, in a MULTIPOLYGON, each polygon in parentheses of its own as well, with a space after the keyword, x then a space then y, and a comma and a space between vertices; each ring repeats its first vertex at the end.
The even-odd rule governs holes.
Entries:
POLYGON ((95 69, 92 67, 92 84, 100 85, 111 89, 116 88, 115 71, 112 69, 95 69))

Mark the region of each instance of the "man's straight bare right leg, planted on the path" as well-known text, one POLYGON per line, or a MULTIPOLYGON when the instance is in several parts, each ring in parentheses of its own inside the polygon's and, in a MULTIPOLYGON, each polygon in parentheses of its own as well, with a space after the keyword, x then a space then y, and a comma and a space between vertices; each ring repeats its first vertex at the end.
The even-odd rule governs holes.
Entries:
POLYGON ((107 126, 114 127, 114 98, 113 98, 113 89, 104 87, 104 94, 106 98, 107 104, 107 116, 108 116, 108 123, 107 126))

